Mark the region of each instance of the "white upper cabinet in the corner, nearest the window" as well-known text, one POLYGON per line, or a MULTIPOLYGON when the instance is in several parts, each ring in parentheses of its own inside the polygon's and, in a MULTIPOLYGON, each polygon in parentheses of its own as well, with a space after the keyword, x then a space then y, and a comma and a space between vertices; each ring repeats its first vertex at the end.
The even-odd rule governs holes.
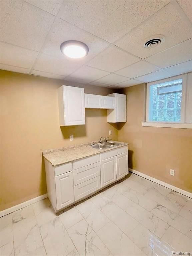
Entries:
POLYGON ((115 98, 115 109, 107 110, 108 123, 120 123, 127 121, 127 96, 125 94, 112 93, 108 96, 115 98))

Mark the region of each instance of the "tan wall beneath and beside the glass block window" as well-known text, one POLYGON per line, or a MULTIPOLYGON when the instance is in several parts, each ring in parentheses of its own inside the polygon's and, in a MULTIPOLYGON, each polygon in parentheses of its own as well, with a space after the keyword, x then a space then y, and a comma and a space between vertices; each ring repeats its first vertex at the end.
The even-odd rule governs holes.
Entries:
POLYGON ((192 130, 142 127, 145 84, 121 92, 127 94, 127 122, 119 124, 118 138, 129 143, 129 167, 192 192, 192 130))

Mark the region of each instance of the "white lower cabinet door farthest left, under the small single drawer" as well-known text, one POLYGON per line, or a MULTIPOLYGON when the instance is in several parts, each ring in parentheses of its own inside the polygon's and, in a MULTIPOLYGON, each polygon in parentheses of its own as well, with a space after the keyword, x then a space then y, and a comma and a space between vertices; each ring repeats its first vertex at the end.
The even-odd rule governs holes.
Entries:
POLYGON ((73 172, 55 177, 57 210, 74 202, 73 172))

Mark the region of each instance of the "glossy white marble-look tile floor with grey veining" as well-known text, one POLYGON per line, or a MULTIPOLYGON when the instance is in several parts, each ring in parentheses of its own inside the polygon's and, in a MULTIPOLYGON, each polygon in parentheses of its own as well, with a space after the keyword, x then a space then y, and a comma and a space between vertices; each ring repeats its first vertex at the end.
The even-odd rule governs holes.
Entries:
POLYGON ((192 253, 192 199, 135 174, 55 214, 48 199, 0 218, 0 256, 192 253))

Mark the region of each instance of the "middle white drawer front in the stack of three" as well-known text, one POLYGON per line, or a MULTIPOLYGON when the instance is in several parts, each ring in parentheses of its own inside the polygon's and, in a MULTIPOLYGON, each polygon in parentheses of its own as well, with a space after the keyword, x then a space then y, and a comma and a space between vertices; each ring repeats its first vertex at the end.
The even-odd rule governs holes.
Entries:
POLYGON ((73 171, 74 185, 90 180, 100 175, 100 162, 81 167, 73 171))

